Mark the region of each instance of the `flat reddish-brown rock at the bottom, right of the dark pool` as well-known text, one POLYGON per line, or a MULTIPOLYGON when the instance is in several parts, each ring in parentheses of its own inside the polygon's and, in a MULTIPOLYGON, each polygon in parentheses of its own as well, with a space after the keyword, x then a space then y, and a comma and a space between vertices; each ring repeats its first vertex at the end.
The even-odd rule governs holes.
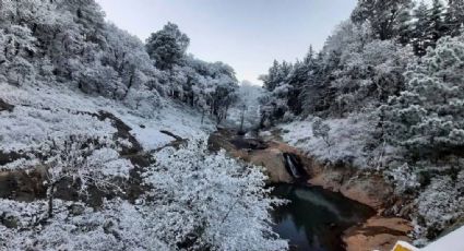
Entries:
POLYGON ((374 216, 346 230, 343 240, 347 251, 390 251, 398 240, 411 241, 407 234, 412 230, 405 219, 374 216))

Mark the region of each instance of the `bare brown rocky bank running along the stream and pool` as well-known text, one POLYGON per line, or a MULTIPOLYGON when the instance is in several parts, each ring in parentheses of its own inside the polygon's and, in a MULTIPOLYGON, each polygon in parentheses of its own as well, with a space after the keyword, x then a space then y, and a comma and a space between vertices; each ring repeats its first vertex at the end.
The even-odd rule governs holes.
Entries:
POLYGON ((397 240, 409 241, 411 223, 398 217, 384 216, 395 204, 393 188, 380 174, 360 171, 344 165, 317 162, 299 150, 276 140, 246 139, 229 130, 219 130, 209 140, 210 150, 224 148, 231 156, 265 168, 269 183, 293 183, 295 177, 286 167, 285 154, 298 157, 310 186, 322 187, 360 202, 378 213, 366 223, 347 229, 342 236, 346 250, 391 250, 397 240))

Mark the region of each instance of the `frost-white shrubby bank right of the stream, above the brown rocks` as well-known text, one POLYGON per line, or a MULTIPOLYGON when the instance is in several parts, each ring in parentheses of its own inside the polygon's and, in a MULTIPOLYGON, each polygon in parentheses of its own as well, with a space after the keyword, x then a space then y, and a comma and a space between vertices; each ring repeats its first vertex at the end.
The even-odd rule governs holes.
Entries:
MULTIPOLYGON (((330 144, 322 136, 313 136, 318 133, 314 134, 312 119, 281 125, 282 136, 287 143, 321 162, 345 163, 357 168, 378 168, 380 164, 384 166, 386 162, 390 162, 390 155, 381 153, 384 152, 383 145, 380 147, 376 145, 373 150, 369 146, 373 141, 376 119, 376 116, 366 112, 353 113, 346 119, 322 120, 322 124, 326 124, 330 129, 326 134, 323 133, 330 144)), ((326 131, 325 127, 322 132, 326 131)), ((392 153, 392 155, 395 154, 392 153)))

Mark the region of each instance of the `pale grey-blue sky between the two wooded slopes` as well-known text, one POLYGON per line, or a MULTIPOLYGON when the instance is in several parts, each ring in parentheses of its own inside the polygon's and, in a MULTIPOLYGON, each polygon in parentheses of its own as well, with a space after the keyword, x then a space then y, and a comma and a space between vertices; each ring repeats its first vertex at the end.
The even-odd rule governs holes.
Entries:
POLYGON ((323 46, 356 0, 97 0, 107 19, 145 40, 167 22, 191 39, 189 52, 230 64, 260 84, 274 59, 294 61, 323 46))

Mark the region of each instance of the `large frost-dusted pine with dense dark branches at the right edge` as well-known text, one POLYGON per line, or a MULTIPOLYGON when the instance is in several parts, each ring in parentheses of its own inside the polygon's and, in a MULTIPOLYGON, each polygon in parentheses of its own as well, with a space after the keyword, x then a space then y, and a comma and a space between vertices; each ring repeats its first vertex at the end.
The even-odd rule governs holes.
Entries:
POLYGON ((391 141, 420 156, 463 147, 463 37, 445 37, 406 73, 406 91, 383 110, 391 141))

